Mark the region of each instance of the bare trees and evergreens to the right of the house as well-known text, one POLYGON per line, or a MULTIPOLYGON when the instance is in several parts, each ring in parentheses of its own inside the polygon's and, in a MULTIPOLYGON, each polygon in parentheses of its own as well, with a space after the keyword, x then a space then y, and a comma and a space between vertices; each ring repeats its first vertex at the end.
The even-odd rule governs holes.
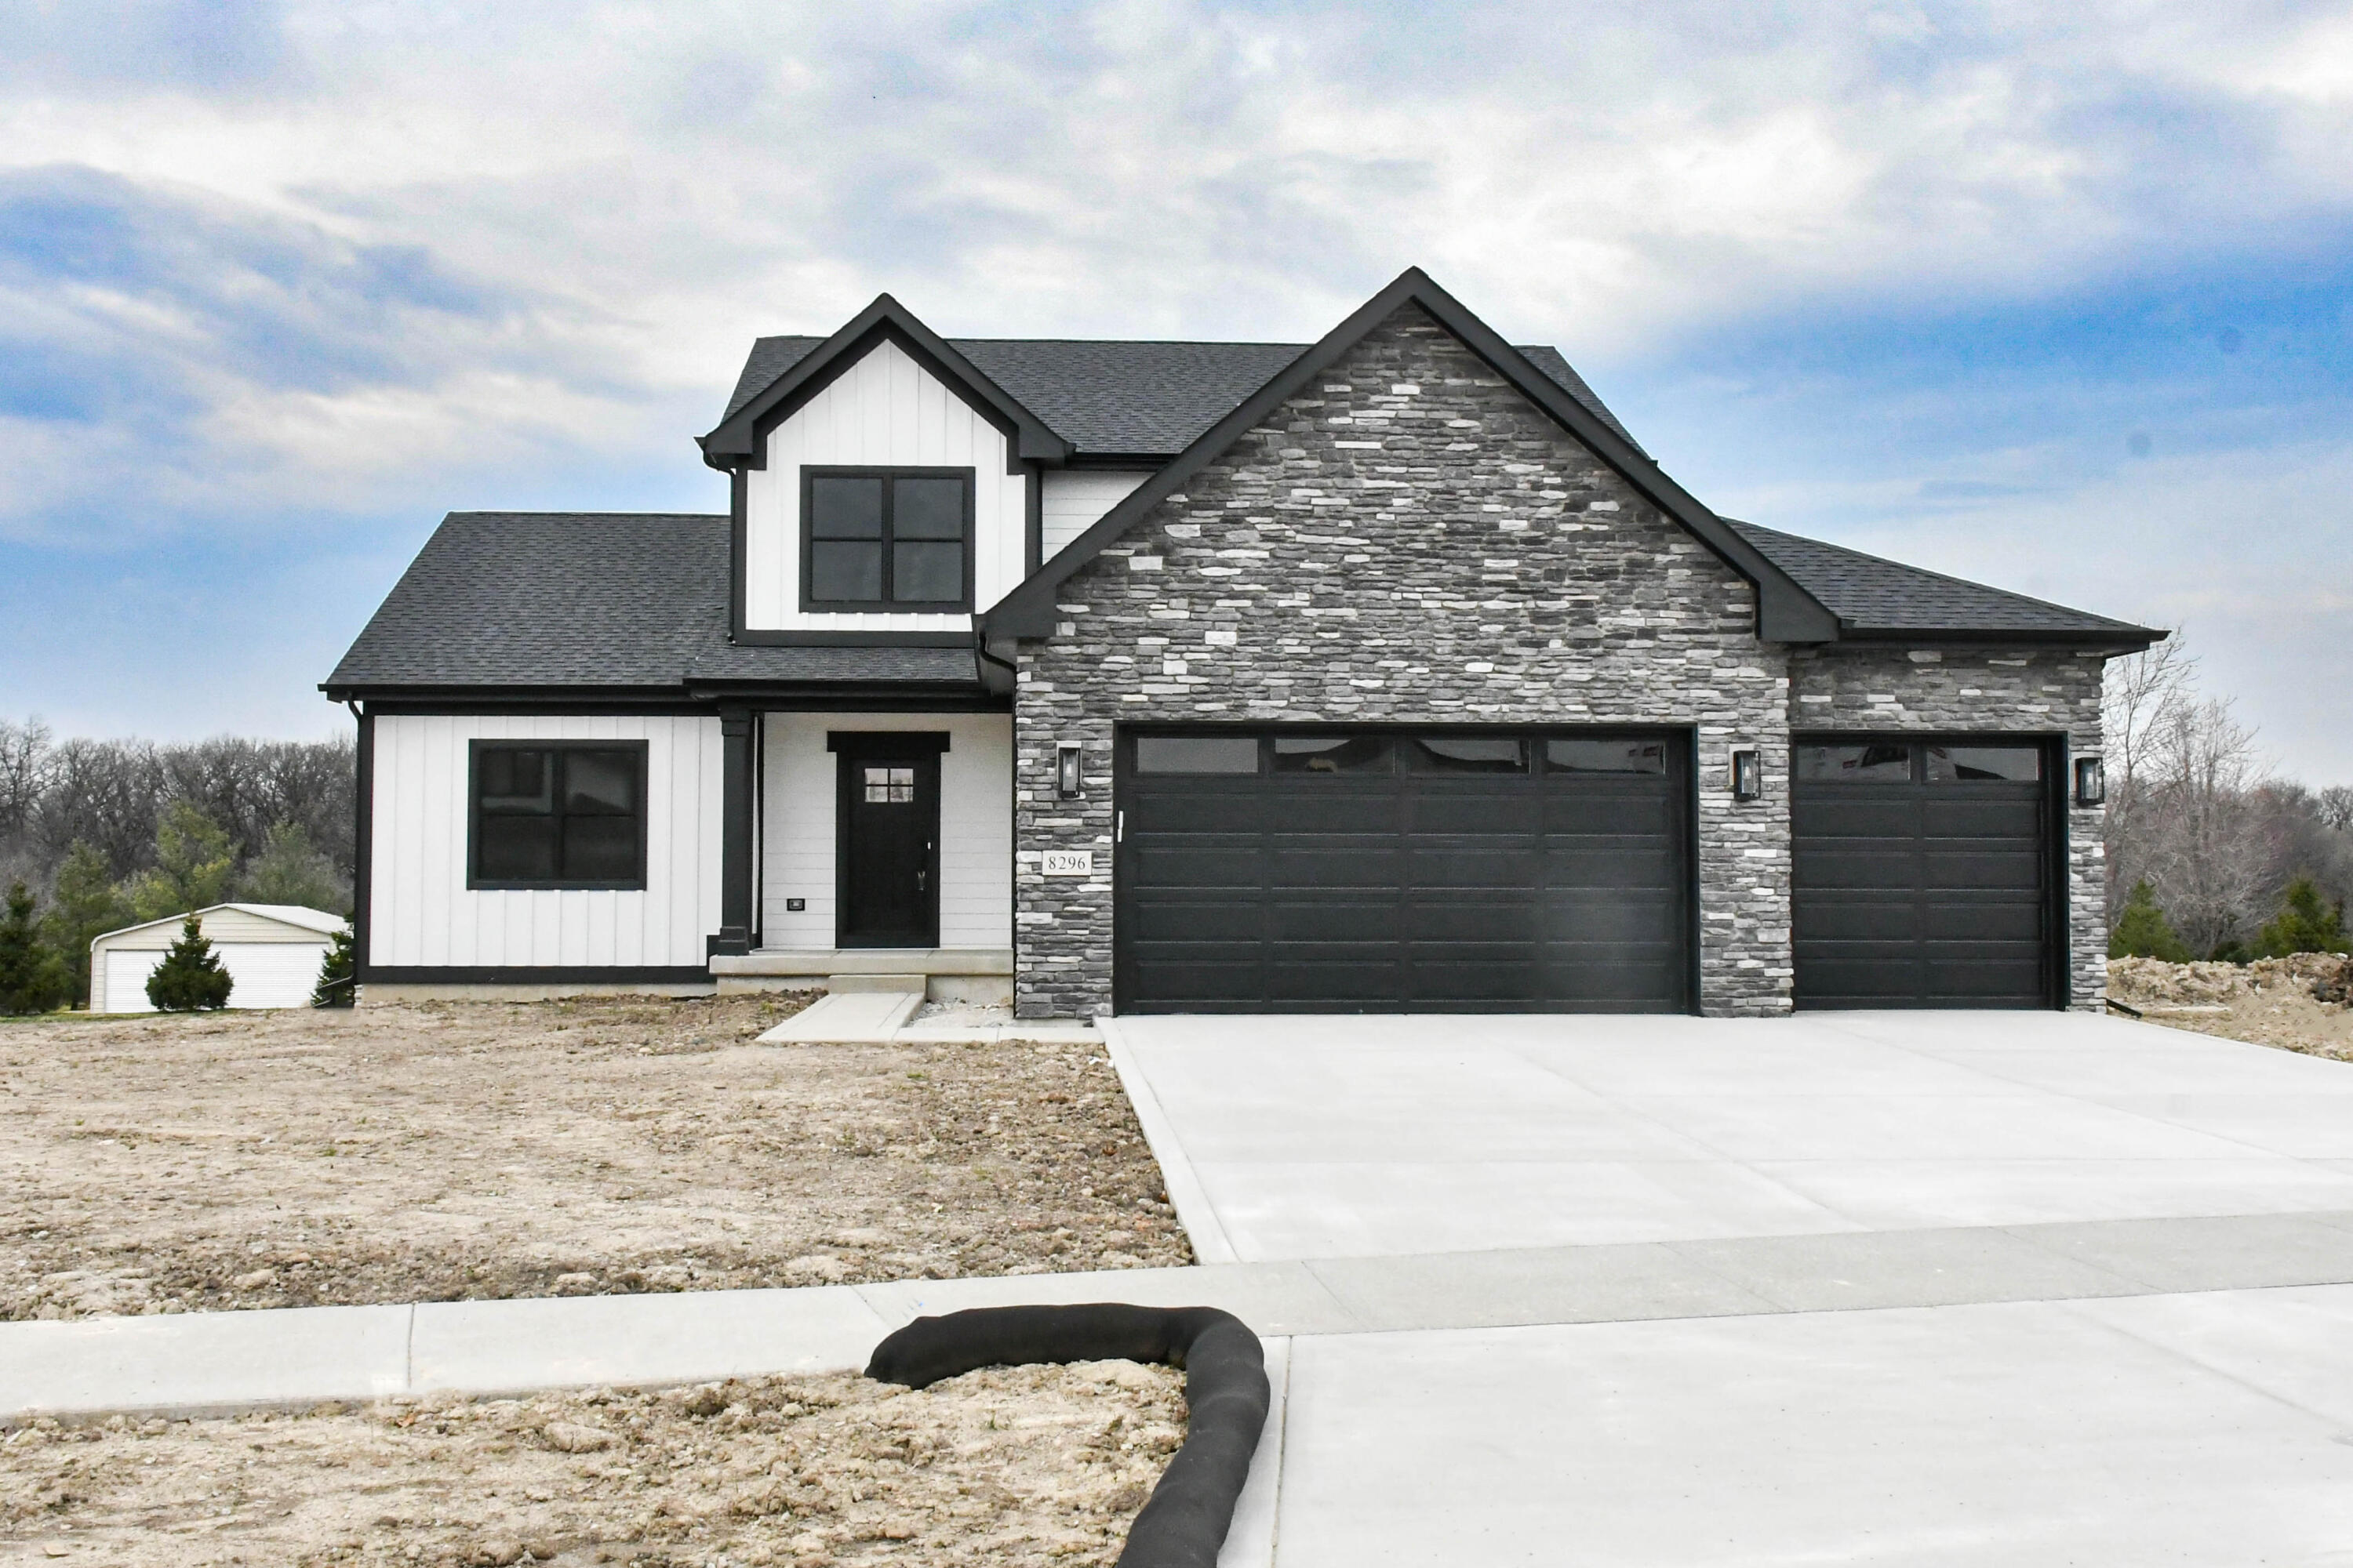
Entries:
POLYGON ((2108 663, 2108 957, 2344 952, 2353 788, 2275 778, 2179 635, 2108 663))

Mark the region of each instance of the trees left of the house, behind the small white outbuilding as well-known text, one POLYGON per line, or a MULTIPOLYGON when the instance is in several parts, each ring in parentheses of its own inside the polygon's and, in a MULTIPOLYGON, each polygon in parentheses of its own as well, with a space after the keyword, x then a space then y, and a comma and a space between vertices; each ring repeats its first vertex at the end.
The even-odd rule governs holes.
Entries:
POLYGON ((87 1004, 89 938, 144 919, 231 900, 348 917, 355 802, 348 736, 56 741, 0 719, 0 1011, 87 1004))

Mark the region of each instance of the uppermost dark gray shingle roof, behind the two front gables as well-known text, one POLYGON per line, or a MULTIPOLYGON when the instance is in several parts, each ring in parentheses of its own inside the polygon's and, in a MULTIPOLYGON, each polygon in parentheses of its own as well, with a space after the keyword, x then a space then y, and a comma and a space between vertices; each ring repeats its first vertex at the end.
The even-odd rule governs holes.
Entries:
MULTIPOLYGON (((760 339, 744 360, 727 414, 765 393, 824 339, 760 339)), ((1238 409, 1306 343, 1153 343, 1094 339, 948 339, 1014 402, 1089 456, 1174 456, 1238 409)), ((1522 348, 1569 397, 1624 435, 1558 348, 1522 348)))

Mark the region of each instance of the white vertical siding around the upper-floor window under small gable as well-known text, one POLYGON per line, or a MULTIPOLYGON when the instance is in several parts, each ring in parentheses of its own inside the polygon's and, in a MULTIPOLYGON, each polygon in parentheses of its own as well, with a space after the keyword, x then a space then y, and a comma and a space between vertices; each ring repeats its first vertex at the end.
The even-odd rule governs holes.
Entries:
POLYGON ((805 614, 805 465, 972 468, 972 602, 988 609, 1024 576, 1028 477, 1005 473, 1005 433, 896 343, 880 343, 767 435, 767 468, 744 477, 744 625, 758 630, 941 630, 972 616, 805 614))

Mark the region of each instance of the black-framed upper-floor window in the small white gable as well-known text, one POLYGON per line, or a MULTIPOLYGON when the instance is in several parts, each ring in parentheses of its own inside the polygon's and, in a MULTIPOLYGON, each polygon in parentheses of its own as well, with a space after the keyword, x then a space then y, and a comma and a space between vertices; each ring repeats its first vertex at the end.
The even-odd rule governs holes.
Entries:
POLYGON ((969 468, 802 468, 800 607, 972 609, 969 468))

